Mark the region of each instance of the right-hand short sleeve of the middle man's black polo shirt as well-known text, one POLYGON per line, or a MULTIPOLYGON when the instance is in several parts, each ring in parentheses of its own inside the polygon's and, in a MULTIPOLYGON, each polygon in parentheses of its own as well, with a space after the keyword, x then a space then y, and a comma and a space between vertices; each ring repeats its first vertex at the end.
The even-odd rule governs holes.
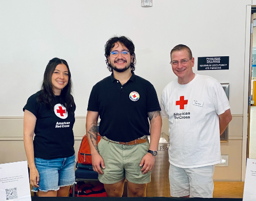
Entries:
POLYGON ((158 95, 156 94, 154 86, 152 84, 150 85, 147 91, 147 112, 160 111, 158 95))

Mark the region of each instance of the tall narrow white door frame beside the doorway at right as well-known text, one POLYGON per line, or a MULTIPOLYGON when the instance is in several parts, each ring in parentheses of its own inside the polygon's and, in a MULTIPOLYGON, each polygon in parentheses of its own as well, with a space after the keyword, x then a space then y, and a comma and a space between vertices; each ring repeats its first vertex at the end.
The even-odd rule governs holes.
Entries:
POLYGON ((243 142, 242 142, 242 181, 245 180, 247 158, 247 126, 248 126, 248 90, 249 90, 249 66, 251 46, 251 10, 252 6, 246 6, 245 21, 245 51, 244 51, 244 104, 243 104, 243 142))

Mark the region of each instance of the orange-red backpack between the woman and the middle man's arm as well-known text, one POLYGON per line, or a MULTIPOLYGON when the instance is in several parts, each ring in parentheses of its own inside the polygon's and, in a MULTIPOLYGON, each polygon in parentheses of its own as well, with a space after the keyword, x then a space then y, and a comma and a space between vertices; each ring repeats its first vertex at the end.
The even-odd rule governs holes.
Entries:
MULTIPOLYGON (((101 136, 97 135, 97 144, 100 142, 101 136)), ((92 154, 90 154, 90 147, 88 143, 87 136, 82 137, 82 141, 79 147, 78 156, 77 156, 77 167, 79 165, 91 165, 92 164, 92 154)))

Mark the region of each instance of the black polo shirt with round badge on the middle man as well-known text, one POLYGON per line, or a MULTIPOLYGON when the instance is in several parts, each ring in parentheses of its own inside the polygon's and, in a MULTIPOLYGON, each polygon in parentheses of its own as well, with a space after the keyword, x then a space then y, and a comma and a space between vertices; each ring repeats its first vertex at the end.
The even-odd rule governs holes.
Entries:
POLYGON ((121 85, 113 73, 93 86, 88 111, 100 115, 100 135, 113 141, 129 142, 150 135, 147 112, 160 111, 154 86, 131 72, 121 85))

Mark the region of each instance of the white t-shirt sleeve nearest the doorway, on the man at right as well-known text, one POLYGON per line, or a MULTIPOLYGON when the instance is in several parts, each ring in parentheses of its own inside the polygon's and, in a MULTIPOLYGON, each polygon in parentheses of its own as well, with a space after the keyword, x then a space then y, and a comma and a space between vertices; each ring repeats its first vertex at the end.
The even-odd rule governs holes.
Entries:
POLYGON ((227 95, 219 83, 213 97, 213 105, 218 115, 221 115, 230 108, 227 95))

